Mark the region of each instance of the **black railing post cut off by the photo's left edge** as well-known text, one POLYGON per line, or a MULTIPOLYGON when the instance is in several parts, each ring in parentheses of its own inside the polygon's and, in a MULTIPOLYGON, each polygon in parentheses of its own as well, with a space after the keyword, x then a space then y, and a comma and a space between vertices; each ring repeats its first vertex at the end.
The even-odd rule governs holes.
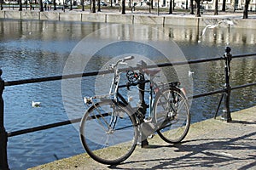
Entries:
POLYGON ((7 133, 3 124, 3 89, 2 69, 0 69, 0 169, 9 169, 7 161, 7 133))

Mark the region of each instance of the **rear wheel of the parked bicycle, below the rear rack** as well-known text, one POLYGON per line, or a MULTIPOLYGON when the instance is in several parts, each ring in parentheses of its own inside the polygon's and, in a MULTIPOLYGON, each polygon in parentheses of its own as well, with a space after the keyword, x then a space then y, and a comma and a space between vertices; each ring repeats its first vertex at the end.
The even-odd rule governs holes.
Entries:
POLYGON ((189 132, 189 104, 183 92, 176 87, 163 88, 154 103, 157 133, 167 143, 181 142, 189 132))

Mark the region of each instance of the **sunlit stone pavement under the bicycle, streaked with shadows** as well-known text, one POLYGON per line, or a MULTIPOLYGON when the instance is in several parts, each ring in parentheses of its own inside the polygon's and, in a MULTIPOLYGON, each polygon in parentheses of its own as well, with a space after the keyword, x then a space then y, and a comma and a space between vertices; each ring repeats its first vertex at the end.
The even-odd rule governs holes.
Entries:
POLYGON ((155 135, 149 148, 138 146, 117 166, 82 154, 31 169, 256 169, 256 106, 232 113, 232 119, 194 123, 181 144, 166 144, 155 135))

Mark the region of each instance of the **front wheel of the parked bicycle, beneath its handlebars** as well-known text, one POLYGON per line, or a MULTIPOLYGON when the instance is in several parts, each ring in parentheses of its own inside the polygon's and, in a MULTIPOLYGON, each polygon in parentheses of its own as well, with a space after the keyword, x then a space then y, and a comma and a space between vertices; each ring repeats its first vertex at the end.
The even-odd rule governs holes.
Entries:
POLYGON ((131 156, 137 135, 131 111, 111 99, 92 105, 80 123, 84 149, 91 158, 103 164, 116 165, 131 156))

